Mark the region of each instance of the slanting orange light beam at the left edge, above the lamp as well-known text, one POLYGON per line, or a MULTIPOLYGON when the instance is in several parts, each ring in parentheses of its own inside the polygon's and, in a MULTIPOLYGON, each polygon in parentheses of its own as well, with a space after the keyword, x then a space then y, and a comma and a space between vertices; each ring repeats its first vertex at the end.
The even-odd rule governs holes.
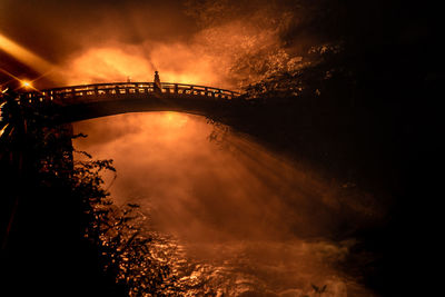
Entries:
POLYGON ((27 50, 20 44, 13 42, 6 36, 0 33, 0 50, 11 55, 13 58, 19 60, 20 62, 36 69, 39 72, 46 72, 52 68, 51 63, 43 60, 39 56, 33 52, 27 50))

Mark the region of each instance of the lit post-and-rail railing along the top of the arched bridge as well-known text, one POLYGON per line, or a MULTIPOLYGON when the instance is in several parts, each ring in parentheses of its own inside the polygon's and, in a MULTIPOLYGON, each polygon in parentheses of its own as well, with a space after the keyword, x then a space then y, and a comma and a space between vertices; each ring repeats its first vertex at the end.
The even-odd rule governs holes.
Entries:
POLYGON ((115 82, 115 83, 95 83, 95 85, 81 85, 71 86, 63 88, 53 88, 42 90, 41 92, 28 92, 21 95, 21 101, 27 103, 43 102, 43 101, 63 101, 63 99, 72 100, 85 98, 100 98, 109 96, 122 96, 122 95, 150 95, 155 92, 185 96, 185 97, 207 97, 212 99, 231 100, 239 97, 240 93, 231 90, 187 85, 187 83, 174 83, 162 82, 160 90, 156 90, 154 82, 115 82))

